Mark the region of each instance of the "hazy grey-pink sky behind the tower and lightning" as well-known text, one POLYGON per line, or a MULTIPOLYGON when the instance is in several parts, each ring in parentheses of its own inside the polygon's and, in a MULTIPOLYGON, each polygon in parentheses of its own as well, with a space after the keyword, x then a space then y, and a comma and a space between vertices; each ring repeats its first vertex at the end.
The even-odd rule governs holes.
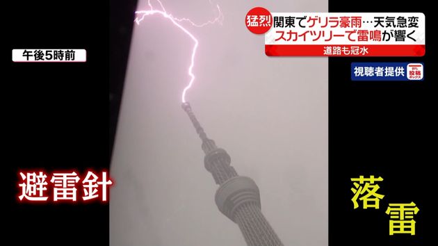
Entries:
MULTIPOLYGON (((204 22, 216 1, 166 1, 176 17, 204 22)), ((328 243, 327 58, 269 58, 245 27, 255 6, 327 12, 325 0, 217 1, 223 25, 188 27, 200 41, 188 91, 209 138, 238 174, 256 181, 261 211, 284 245, 328 243)), ((138 10, 147 1, 139 0, 138 10)), ((188 25, 185 25, 188 26, 188 25)), ((133 30, 111 175, 110 240, 117 245, 245 245, 214 202, 201 142, 181 91, 193 42, 159 15, 133 30)))

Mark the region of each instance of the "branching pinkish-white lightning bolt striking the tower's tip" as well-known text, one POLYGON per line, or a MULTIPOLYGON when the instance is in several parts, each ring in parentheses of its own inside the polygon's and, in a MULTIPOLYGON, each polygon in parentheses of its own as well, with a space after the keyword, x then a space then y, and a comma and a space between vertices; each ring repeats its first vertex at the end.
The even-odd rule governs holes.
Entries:
POLYGON ((154 9, 154 6, 152 6, 151 0, 148 0, 147 6, 149 6, 149 10, 136 11, 136 15, 138 15, 138 17, 136 17, 134 22, 136 22, 136 24, 140 25, 140 22, 142 22, 143 19, 145 19, 145 17, 147 17, 149 15, 161 15, 165 19, 169 19, 170 22, 172 22, 172 24, 177 26, 177 28, 181 29, 181 31, 184 31, 184 33, 186 33, 190 37, 190 39, 193 40, 192 56, 190 57, 190 66, 188 67, 188 76, 190 76, 190 81, 188 82, 188 85, 186 85, 186 87, 184 88, 182 95, 181 95, 182 102, 185 103, 186 102, 186 92, 192 87, 193 81, 195 81, 195 74, 193 74, 193 67, 195 66, 195 56, 196 56, 196 50, 197 50, 197 46, 198 46, 199 42, 195 38, 195 35, 190 33, 190 31, 188 31, 186 28, 184 28, 184 26, 182 26, 181 24, 186 22, 186 23, 190 24, 191 26, 195 26, 195 27, 203 27, 203 26, 206 26, 209 24, 215 24, 215 23, 219 23, 222 25, 224 17, 222 15, 222 12, 220 11, 220 7, 218 5, 216 5, 216 8, 218 10, 218 16, 215 19, 209 20, 208 22, 204 22, 202 24, 195 24, 195 22, 192 22, 188 18, 180 18, 179 19, 177 17, 173 17, 173 15, 167 13, 167 11, 165 10, 165 8, 163 6, 163 3, 161 3, 160 0, 155 0, 155 1, 159 3, 160 9, 154 9))

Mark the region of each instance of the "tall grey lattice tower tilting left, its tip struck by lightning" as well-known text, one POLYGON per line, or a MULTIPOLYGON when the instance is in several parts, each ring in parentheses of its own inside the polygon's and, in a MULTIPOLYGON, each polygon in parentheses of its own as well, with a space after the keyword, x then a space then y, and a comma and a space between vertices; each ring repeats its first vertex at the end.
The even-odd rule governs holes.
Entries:
POLYGON ((190 117, 202 140, 201 146, 205 153, 204 166, 220 185, 215 196, 220 212, 238 224, 249 246, 283 245, 261 213, 260 193, 256 183, 249 177, 237 174, 234 167, 230 165, 231 158, 227 151, 216 147, 215 142, 207 138, 190 104, 183 103, 182 108, 190 117))

